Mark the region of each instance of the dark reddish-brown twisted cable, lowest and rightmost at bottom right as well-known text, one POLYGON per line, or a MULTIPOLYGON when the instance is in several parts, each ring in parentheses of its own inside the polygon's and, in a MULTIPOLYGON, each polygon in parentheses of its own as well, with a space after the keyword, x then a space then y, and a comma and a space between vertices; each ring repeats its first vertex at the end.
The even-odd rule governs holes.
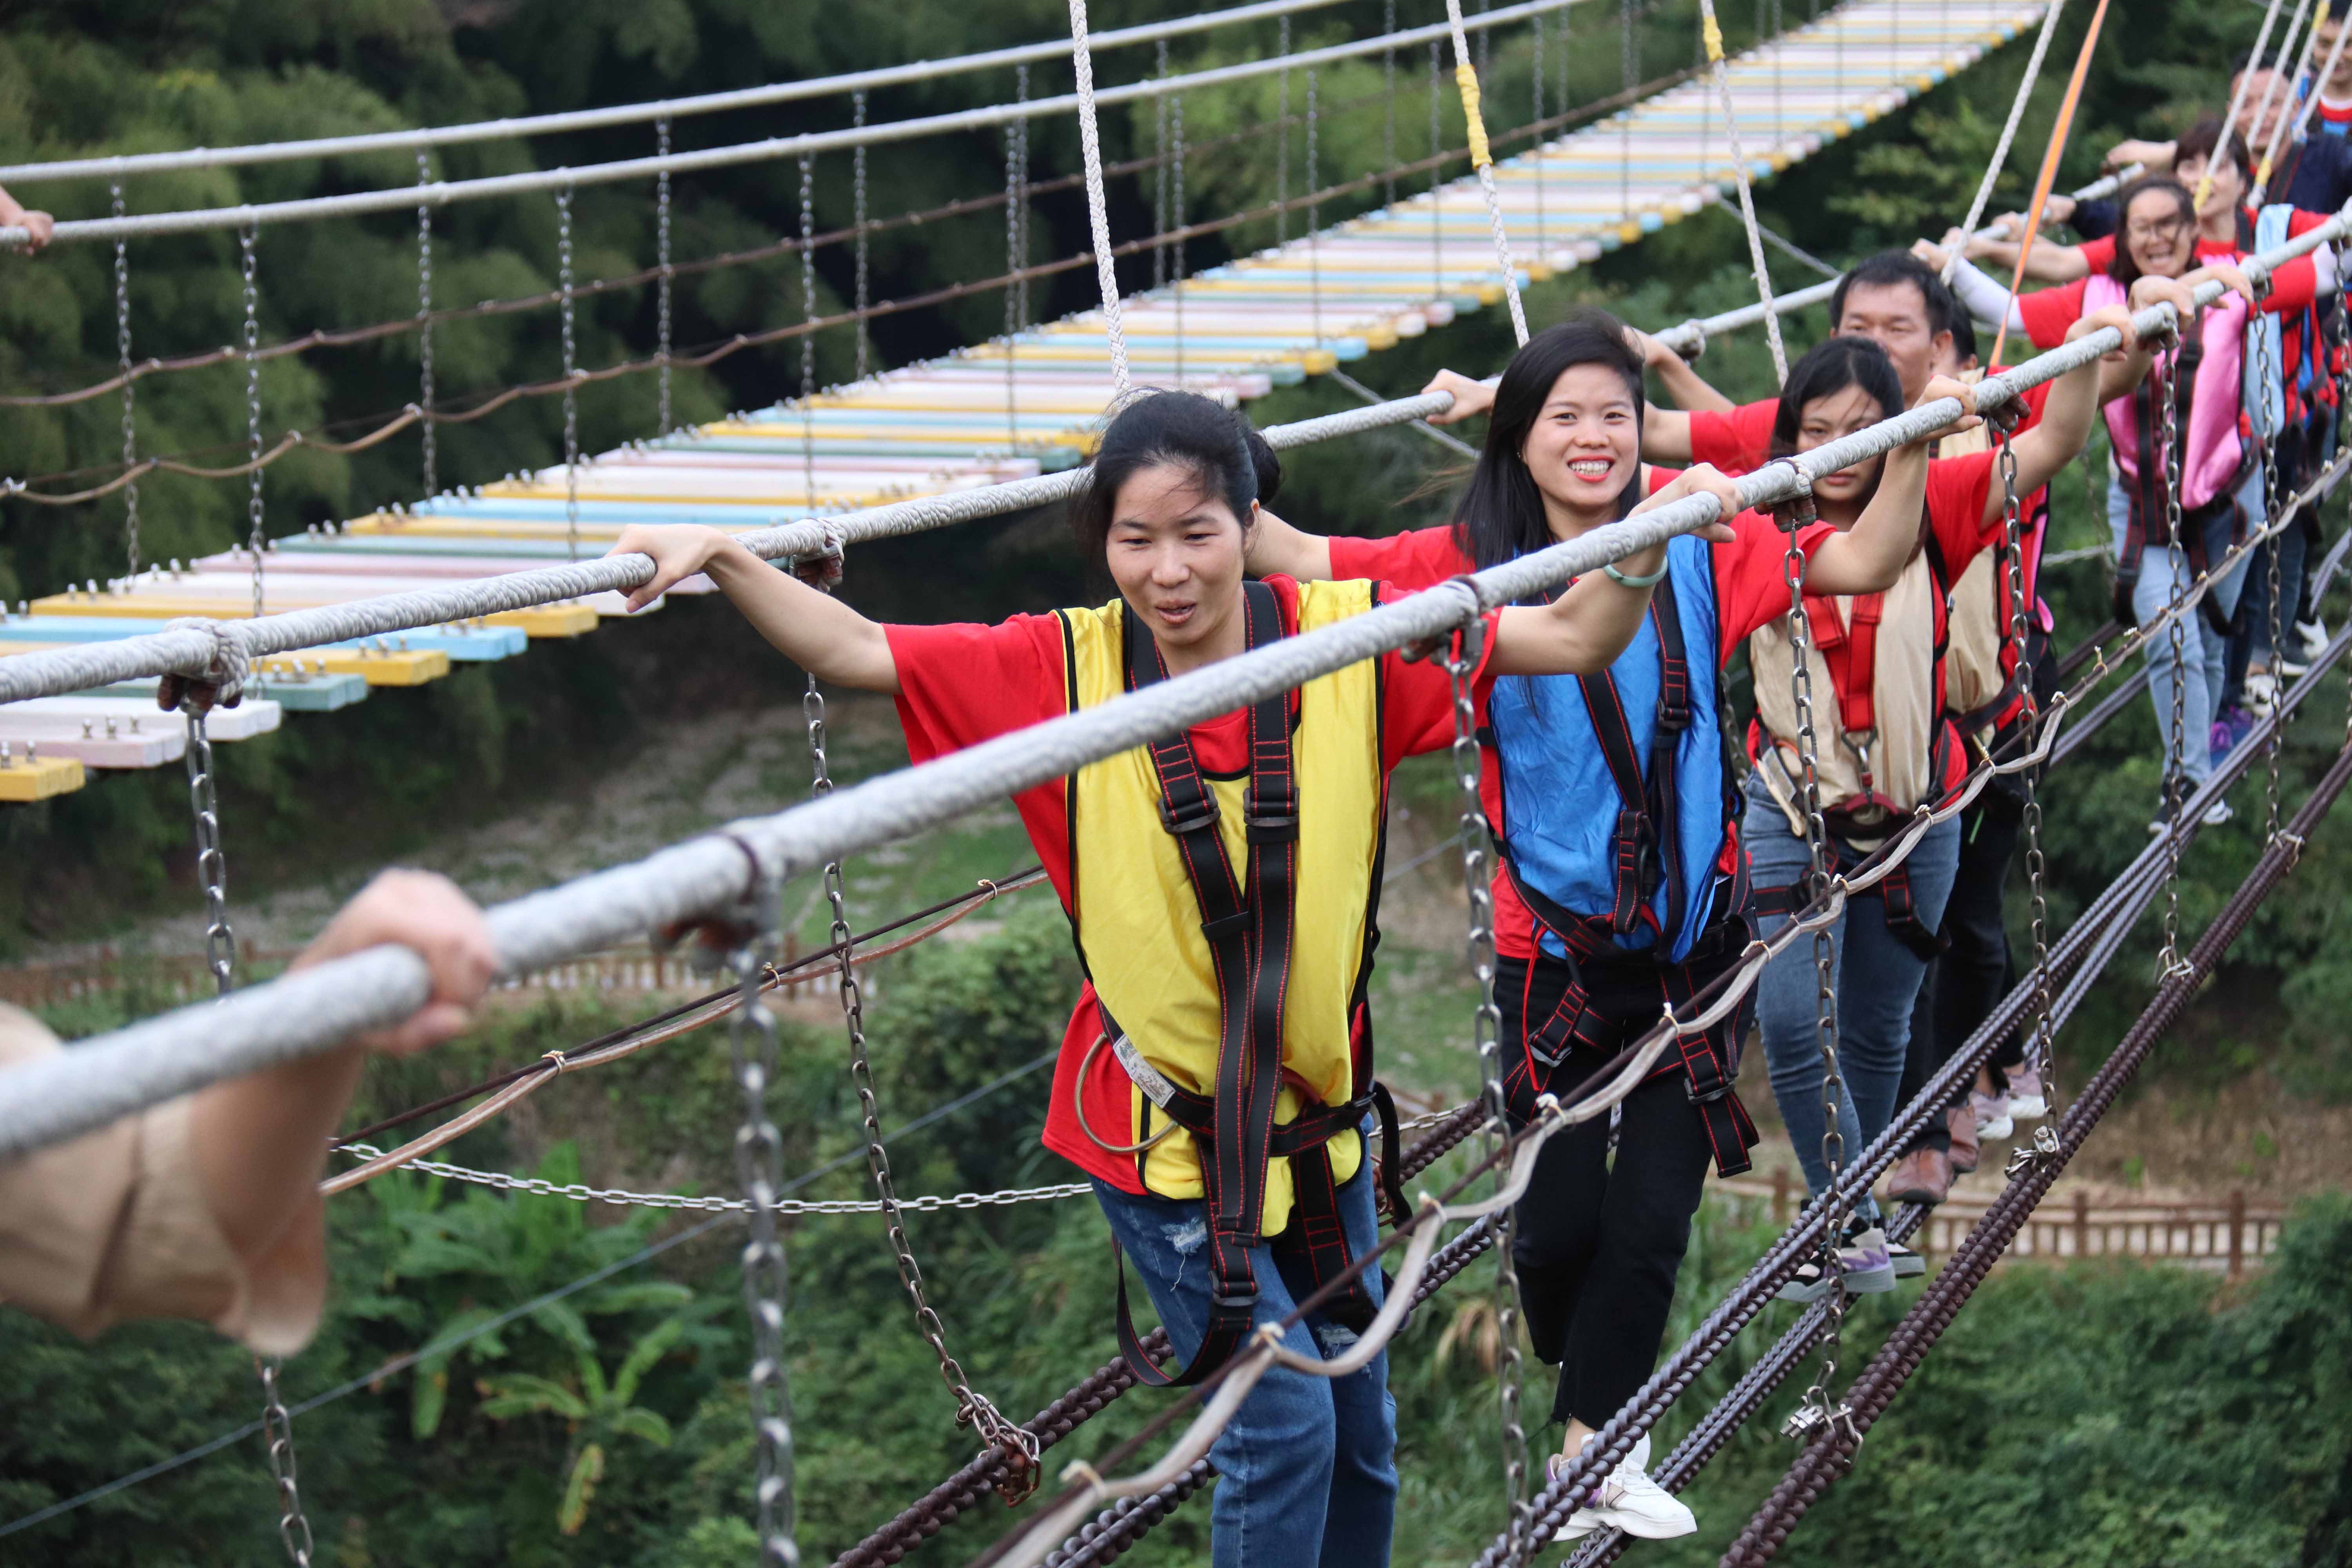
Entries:
MULTIPOLYGON (((2343 637, 2338 637, 2340 642, 2343 637)), ((1759 1568, 1769 1563, 1806 1509, 1851 1467, 1863 1434, 1870 1432, 1912 1371, 1919 1368, 1919 1361, 1943 1331, 1952 1326, 1952 1319, 1976 1293, 1976 1286, 1983 1284, 1992 1262, 2009 1251, 2016 1232, 2049 1194, 2067 1161, 2082 1150, 2154 1044, 2187 1011, 2204 978, 2246 931, 2263 900, 2293 872, 2305 839, 2347 783, 2352 783, 2352 748, 2336 755, 2336 762, 2303 802, 2286 832, 2265 846, 2263 858, 2230 896, 2220 914, 2213 917, 2213 924, 2190 952, 2187 964, 2159 983, 2154 999, 2124 1034, 2107 1065, 2098 1070, 2074 1105, 2058 1119, 2053 1140, 2046 1145, 2037 1143, 2032 1159, 2002 1192, 1992 1211, 1969 1232, 1969 1239, 1952 1253, 1936 1281, 1912 1302, 1903 1321, 1896 1324, 1879 1354, 1872 1356, 1870 1366, 1853 1382, 1846 1401, 1851 1406, 1851 1425, 1832 1422, 1823 1427, 1820 1436, 1797 1458, 1731 1549, 1724 1552, 1724 1568, 1759 1568)))

